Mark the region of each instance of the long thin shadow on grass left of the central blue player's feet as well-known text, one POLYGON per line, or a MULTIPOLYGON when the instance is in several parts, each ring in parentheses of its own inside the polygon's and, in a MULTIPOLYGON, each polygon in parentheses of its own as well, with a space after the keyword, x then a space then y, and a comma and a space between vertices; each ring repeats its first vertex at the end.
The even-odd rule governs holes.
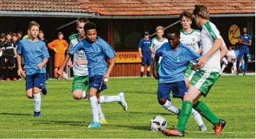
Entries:
POLYGON ((71 125, 71 126, 88 126, 89 122, 78 122, 70 120, 33 120, 36 121, 34 125, 71 125))

